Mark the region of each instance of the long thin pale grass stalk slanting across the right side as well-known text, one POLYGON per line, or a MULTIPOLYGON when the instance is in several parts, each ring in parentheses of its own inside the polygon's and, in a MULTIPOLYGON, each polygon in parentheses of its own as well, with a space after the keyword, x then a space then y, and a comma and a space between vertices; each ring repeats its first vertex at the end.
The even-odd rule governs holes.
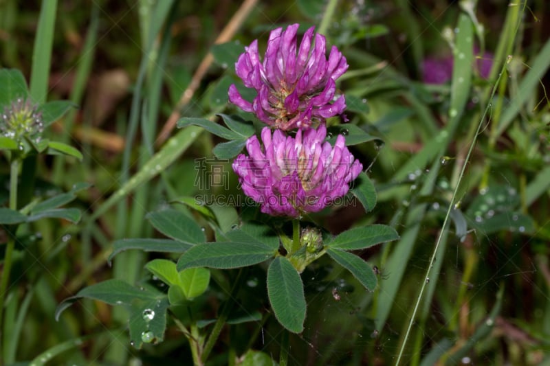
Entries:
MULTIPOLYGON (((500 76, 502 76, 502 73, 500 74, 500 76)), ((495 86, 493 87, 491 98, 493 98, 494 94, 496 93, 496 87, 497 87, 498 83, 500 82, 500 76, 498 76, 498 79, 496 80, 495 86)), ((422 282, 422 285, 420 287, 420 292, 418 294, 417 301, 415 302, 415 307, 412 310, 412 315, 411 315, 409 323, 408 323, 408 327, 407 327, 407 330, 406 330, 406 333, 405 333, 403 343, 401 343, 401 348, 399 349, 399 354, 397 356, 397 361, 395 362, 396 366, 399 365, 399 362, 401 361, 401 357, 404 354, 406 343, 407 343, 408 337, 410 335, 410 330, 412 329, 412 324, 415 323, 415 318, 416 318, 416 315, 417 315, 418 308, 420 306, 420 301, 422 299, 424 290, 426 288, 426 284, 427 284, 427 282, 429 282, 430 274, 432 273, 432 270, 433 270, 432 266, 434 265, 434 261, 435 261, 436 255, 437 255, 437 251, 439 250, 439 247, 441 245, 441 240, 443 238, 443 235, 442 235, 443 231, 445 230, 446 227, 448 227, 450 213, 451 213, 451 210, 454 209, 454 203, 456 201, 456 192, 458 192, 458 190, 459 190, 459 185, 460 185, 460 183, 461 183, 461 181, 464 177, 464 173, 466 171, 467 163, 468 163, 468 161, 470 161, 470 158, 472 157, 472 152, 474 151, 474 147, 476 146, 477 137, 478 137, 479 133, 481 132, 483 122, 485 121, 485 117, 487 116, 487 113, 489 113, 489 109, 490 109, 490 106, 489 106, 489 104, 487 104, 487 107, 485 108, 483 116, 481 117, 481 119, 480 119, 480 121, 477 125, 476 134, 474 135, 474 138, 472 139, 472 144, 470 144, 470 148, 468 149, 465 160, 462 164, 462 169, 461 169, 461 172, 459 174, 459 181, 457 182, 457 185, 456 185, 456 187, 454 187, 454 190, 452 192, 452 196, 451 196, 450 203, 449 203, 449 206, 448 206, 448 209, 447 209, 447 213, 445 214, 445 220, 443 220, 442 229, 439 233, 439 236, 437 237, 437 242, 435 243, 435 247, 434 247, 434 250, 432 252, 430 262, 428 263, 428 269, 426 270, 426 275, 424 276, 424 281, 422 282)))

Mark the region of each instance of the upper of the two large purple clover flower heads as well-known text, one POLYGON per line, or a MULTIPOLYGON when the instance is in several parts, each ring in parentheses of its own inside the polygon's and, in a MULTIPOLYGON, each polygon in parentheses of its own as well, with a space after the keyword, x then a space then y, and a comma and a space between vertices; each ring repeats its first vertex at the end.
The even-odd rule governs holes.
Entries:
POLYGON ((327 60, 327 41, 322 34, 315 34, 314 38, 314 27, 305 32, 298 47, 298 26, 273 30, 263 61, 257 40, 239 56, 235 71, 245 87, 256 89, 252 103, 241 96, 234 84, 229 88, 230 102, 281 130, 325 122, 346 108, 344 95, 336 95, 335 81, 348 68, 346 58, 332 46, 327 60))

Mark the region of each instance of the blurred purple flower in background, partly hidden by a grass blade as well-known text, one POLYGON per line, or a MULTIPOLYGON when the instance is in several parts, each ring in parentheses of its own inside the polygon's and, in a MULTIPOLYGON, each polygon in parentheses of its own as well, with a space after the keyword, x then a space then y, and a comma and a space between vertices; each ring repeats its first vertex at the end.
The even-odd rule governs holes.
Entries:
MULTIPOLYGON (((476 71, 481 78, 488 79, 493 66, 494 55, 490 52, 479 54, 478 47, 474 47, 476 55, 476 71)), ((422 60, 422 81, 426 84, 445 84, 452 77, 452 56, 437 58, 428 56, 422 60)))

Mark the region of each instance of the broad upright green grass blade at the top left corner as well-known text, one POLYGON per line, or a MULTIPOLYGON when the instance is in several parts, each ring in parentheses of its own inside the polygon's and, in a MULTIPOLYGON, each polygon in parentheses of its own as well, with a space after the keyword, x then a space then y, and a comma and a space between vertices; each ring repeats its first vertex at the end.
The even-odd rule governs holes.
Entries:
POLYGON ((34 50, 32 52, 30 96, 34 103, 45 102, 47 98, 56 12, 57 0, 42 2, 39 23, 36 27, 34 50))

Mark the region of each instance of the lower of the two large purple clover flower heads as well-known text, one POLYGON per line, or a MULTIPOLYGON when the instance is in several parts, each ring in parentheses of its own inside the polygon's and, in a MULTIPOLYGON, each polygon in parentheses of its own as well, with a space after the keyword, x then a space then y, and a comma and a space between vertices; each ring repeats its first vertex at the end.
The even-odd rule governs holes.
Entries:
POLYGON ((243 192, 261 204, 261 211, 294 218, 317 212, 344 196, 363 169, 338 135, 334 147, 325 141, 327 127, 298 129, 296 137, 265 127, 263 148, 254 135, 246 142, 233 170, 243 192))

